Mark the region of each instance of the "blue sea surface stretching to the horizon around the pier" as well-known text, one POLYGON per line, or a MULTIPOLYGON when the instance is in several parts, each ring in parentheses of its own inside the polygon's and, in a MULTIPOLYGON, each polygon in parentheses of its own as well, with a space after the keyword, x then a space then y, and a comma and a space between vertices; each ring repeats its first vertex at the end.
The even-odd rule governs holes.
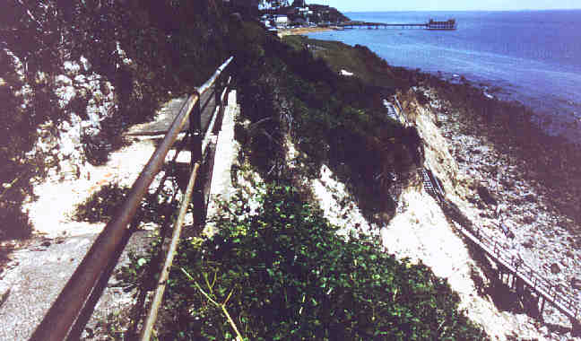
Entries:
POLYGON ((387 23, 454 18, 456 31, 365 28, 308 36, 365 45, 392 66, 452 81, 464 76, 490 96, 524 103, 551 134, 581 143, 581 10, 345 14, 387 23))

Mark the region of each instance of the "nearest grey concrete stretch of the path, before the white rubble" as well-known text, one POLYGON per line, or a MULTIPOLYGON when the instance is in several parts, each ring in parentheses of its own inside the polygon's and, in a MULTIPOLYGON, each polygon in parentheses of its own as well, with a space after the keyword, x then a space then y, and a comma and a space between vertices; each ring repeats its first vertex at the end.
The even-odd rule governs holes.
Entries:
MULTIPOLYGON (((128 261, 128 252, 139 252, 148 244, 150 233, 135 232, 124 251, 116 271, 128 261)), ((79 265, 97 234, 58 238, 33 243, 13 252, 8 271, 0 279, 0 340, 27 340, 79 265)), ((93 320, 127 307, 132 293, 124 293, 109 281, 97 305, 93 320)))

